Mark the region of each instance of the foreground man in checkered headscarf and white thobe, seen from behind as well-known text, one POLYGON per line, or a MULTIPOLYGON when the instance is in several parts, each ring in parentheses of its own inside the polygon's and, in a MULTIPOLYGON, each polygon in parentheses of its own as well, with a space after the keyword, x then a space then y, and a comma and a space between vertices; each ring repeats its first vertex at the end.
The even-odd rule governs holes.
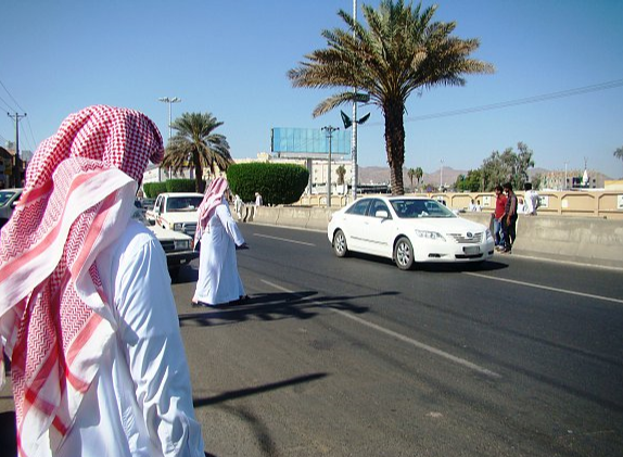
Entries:
POLYGON ((151 119, 104 105, 35 152, 0 231, 20 456, 204 456, 165 254, 130 217, 163 153, 151 119))

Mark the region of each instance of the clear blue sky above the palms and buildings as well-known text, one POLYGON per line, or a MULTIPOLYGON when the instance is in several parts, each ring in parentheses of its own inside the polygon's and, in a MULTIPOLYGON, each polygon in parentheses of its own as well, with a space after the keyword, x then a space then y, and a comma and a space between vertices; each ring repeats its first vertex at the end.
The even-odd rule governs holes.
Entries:
MULTIPOLYGON (((443 160, 444 167, 473 169, 493 151, 523 141, 537 167, 583 168, 586 160, 590 169, 623 177, 623 162, 612 155, 623 147, 623 1, 437 4, 435 18, 456 21, 461 38, 479 38, 474 56, 496 73, 409 99, 405 166, 433 173, 443 160), (472 110, 611 81, 609 89, 572 97, 472 110), (468 113, 433 116, 462 110, 468 113)), ((174 118, 211 112, 225 123, 218 131, 232 156, 255 157, 270 150, 272 127, 341 126, 339 110, 312 117, 331 91, 294 89, 285 76, 326 46, 322 29, 345 27, 339 9, 352 13, 353 1, 3 0, 0 111, 27 113, 21 149, 34 150, 67 114, 96 103, 142 111, 166 139, 168 105, 157 99, 178 97, 174 118)), ((359 109, 368 112, 358 163, 386 166, 382 113, 359 109)), ((14 136, 3 114, 0 142, 14 136)))

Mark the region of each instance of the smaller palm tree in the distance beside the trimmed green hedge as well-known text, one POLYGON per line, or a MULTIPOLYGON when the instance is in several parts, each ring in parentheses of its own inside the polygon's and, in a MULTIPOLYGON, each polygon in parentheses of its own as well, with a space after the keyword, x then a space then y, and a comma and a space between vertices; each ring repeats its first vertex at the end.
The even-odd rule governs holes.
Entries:
POLYGON ((174 172, 194 167, 195 190, 203 192, 203 168, 216 175, 217 168, 226 170, 233 163, 225 136, 215 134, 223 125, 212 113, 183 113, 171 124, 177 134, 168 141, 164 167, 174 172))

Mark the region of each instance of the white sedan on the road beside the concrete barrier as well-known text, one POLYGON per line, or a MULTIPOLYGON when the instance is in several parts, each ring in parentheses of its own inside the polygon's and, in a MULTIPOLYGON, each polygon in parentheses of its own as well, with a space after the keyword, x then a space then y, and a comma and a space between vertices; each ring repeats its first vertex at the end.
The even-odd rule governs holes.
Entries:
POLYGON ((361 252, 391 258, 400 269, 419 262, 483 262, 494 253, 488 228, 418 196, 356 200, 333 214, 327 236, 338 257, 361 252))

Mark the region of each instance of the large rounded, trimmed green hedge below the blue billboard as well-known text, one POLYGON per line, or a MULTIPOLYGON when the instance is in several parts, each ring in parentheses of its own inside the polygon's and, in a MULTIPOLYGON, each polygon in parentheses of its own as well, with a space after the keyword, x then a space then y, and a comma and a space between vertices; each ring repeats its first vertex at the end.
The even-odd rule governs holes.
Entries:
POLYGON ((287 205, 301 199, 309 172, 301 165, 253 162, 230 165, 227 180, 244 202, 254 201, 255 192, 259 192, 264 204, 287 205))

